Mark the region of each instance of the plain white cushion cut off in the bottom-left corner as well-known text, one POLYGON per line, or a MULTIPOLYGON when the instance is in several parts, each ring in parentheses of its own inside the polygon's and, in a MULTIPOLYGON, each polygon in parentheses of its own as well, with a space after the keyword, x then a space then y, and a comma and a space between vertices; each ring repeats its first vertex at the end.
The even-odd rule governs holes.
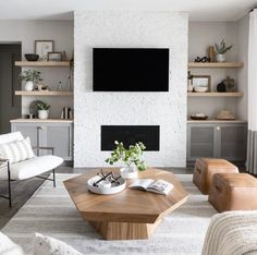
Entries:
POLYGON ((25 255, 23 250, 0 232, 0 255, 25 255))

